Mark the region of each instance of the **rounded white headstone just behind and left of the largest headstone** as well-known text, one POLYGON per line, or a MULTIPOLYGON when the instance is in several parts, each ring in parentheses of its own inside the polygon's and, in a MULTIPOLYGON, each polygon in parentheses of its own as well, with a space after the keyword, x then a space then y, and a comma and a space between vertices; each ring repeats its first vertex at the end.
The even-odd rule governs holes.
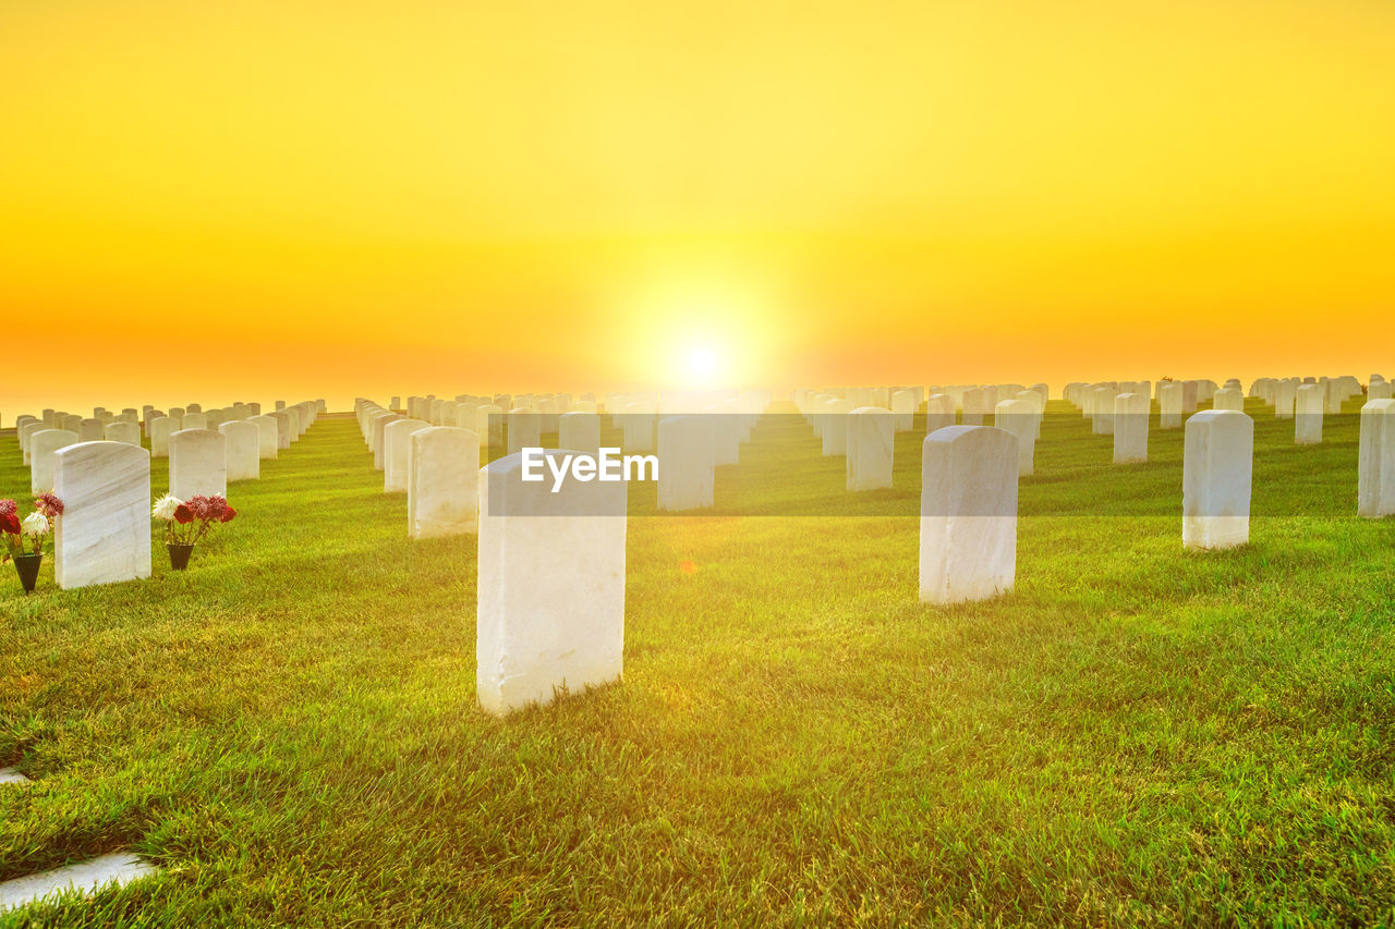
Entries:
POLYGON ((480 437, 437 425, 407 437, 407 536, 435 538, 478 531, 480 437))

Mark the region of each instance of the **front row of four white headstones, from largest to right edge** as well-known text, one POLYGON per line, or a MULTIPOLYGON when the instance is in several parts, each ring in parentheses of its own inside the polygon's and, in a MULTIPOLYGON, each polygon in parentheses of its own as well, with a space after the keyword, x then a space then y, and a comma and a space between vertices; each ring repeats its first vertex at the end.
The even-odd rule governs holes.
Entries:
MULTIPOLYGON (((1186 423, 1183 446, 1183 545, 1219 550, 1247 543, 1254 420, 1237 410, 1200 411, 1186 423)), ((946 425, 925 438, 922 601, 951 604, 1011 590, 1018 453, 1018 437, 997 427, 946 425)), ((1371 400, 1362 409, 1359 467, 1359 513, 1395 513, 1395 400, 1371 400)), ((522 480, 519 455, 491 463, 481 476, 476 654, 481 706, 502 714, 548 703, 559 690, 618 679, 624 487, 573 483, 554 494, 522 480), (531 522, 538 516, 552 518, 545 531, 531 522)))

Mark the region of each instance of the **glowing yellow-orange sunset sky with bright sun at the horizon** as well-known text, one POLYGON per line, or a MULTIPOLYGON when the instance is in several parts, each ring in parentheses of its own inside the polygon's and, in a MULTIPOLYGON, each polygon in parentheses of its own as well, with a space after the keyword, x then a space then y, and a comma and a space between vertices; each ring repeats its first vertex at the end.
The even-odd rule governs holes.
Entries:
POLYGON ((0 4, 4 425, 1395 377, 1395 3, 0 4))

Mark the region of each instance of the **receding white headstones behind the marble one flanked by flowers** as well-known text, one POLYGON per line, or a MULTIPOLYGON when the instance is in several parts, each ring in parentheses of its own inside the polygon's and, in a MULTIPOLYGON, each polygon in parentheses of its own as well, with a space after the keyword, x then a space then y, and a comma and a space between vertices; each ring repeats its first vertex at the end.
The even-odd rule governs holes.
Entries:
MULTIPOLYGON (((193 409, 176 407, 166 414, 146 407, 144 421, 151 455, 170 459, 170 492, 181 499, 198 494, 223 495, 227 481, 257 480, 261 477, 261 462, 275 459, 279 448, 289 448, 304 435, 324 409, 324 400, 282 405, 266 416, 258 414, 257 409, 257 405, 236 405, 212 414, 194 405, 193 409)), ((127 418, 134 411, 123 410, 123 418, 106 424, 99 438, 91 438, 91 430, 74 432, 49 427, 32 416, 18 417, 20 451, 29 464, 31 491, 42 494, 54 488, 54 455, 70 445, 105 441, 141 446, 141 425, 127 418)), ((54 414, 49 423, 67 424, 64 416, 54 414)), ((100 420, 91 417, 82 421, 100 420)))

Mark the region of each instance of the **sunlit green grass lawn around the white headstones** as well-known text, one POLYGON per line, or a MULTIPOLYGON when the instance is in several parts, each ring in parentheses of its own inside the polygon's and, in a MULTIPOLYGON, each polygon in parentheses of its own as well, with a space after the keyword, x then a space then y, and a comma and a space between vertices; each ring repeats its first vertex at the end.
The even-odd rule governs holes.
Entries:
MULTIPOLYGON (((989 603, 917 601, 919 432, 891 491, 845 492, 792 417, 718 470, 755 515, 632 488, 624 683, 506 720, 474 538, 410 543, 352 417, 234 484, 187 573, 158 538, 148 582, 4 566, 0 766, 35 783, 0 787, 0 880, 163 868, 8 919, 1395 919, 1395 520, 1355 516, 1356 417, 1296 448, 1251 400, 1251 544, 1196 554, 1182 432, 1116 467, 1069 409, 989 603)), ((27 508, 13 431, 0 495, 27 508)))

